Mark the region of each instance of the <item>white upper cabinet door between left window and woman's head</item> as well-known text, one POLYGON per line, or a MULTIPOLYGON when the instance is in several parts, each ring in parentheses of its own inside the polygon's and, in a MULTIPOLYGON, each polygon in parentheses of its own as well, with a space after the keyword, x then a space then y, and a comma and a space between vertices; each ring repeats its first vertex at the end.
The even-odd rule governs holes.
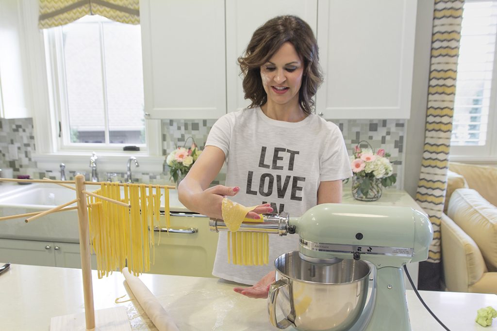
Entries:
POLYGON ((141 0, 145 116, 226 114, 224 0, 141 0))

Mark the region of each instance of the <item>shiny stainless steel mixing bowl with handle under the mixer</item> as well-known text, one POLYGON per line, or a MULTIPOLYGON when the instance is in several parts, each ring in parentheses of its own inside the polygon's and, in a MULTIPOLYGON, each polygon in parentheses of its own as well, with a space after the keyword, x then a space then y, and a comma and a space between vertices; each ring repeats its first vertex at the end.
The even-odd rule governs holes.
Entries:
POLYGON ((274 261, 276 282, 269 288, 271 324, 305 331, 348 330, 359 318, 371 269, 364 261, 315 264, 289 252, 274 261), (285 318, 277 321, 276 302, 285 318))

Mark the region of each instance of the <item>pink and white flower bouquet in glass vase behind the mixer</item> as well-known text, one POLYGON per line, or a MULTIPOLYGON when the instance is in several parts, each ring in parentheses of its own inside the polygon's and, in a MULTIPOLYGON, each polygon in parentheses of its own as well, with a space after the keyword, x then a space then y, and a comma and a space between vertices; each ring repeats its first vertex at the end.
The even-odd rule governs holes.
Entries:
POLYGON ((390 154, 386 153, 383 148, 375 153, 372 147, 361 148, 360 142, 354 147, 353 155, 350 157, 350 166, 354 173, 352 182, 354 197, 373 200, 372 196, 377 194, 375 191, 379 190, 379 196, 381 196, 380 183, 383 187, 395 184, 397 176, 393 173, 389 157, 390 154))

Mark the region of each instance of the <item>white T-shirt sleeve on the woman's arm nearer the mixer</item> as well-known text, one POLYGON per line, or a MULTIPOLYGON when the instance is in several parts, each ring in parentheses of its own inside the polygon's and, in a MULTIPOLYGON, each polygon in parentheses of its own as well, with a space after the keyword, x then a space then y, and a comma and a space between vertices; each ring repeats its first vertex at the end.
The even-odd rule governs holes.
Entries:
POLYGON ((320 181, 343 180, 352 176, 347 147, 338 127, 329 122, 329 134, 321 157, 320 181))

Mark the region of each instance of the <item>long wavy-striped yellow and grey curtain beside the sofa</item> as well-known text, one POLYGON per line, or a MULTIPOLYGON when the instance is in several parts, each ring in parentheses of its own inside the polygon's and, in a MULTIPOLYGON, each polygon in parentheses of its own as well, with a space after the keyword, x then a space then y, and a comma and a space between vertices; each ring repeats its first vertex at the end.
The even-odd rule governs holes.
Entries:
POLYGON ((445 200, 457 60, 464 0, 435 0, 421 174, 416 201, 433 225, 427 262, 439 263, 440 219, 445 200))

